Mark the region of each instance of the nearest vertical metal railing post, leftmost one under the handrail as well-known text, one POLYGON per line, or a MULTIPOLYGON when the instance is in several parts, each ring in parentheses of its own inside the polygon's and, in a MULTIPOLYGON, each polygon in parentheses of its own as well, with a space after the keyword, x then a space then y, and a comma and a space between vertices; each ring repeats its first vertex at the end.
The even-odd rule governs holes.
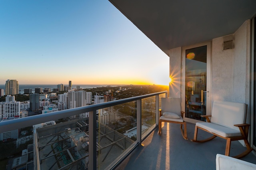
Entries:
POLYGON ((96 170, 97 150, 96 150, 96 128, 97 128, 97 110, 89 112, 89 170, 96 170))

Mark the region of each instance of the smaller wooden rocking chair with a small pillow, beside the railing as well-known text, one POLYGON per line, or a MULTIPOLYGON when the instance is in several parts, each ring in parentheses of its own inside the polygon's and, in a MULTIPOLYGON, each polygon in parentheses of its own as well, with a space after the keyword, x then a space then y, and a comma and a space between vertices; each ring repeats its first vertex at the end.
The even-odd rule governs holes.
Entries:
POLYGON ((167 123, 178 123, 180 124, 180 130, 184 139, 187 138, 187 127, 186 122, 183 120, 184 112, 181 111, 180 98, 162 98, 161 108, 159 109, 159 131, 160 135, 162 132, 162 122, 167 123), (184 125, 184 131, 182 126, 184 125))

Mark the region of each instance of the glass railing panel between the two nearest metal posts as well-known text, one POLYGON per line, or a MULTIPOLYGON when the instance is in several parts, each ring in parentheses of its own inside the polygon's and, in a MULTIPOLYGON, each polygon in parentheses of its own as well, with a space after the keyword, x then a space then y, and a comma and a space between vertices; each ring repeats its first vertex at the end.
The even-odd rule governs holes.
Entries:
POLYGON ((97 169, 108 169, 136 141, 135 101, 98 110, 97 169))

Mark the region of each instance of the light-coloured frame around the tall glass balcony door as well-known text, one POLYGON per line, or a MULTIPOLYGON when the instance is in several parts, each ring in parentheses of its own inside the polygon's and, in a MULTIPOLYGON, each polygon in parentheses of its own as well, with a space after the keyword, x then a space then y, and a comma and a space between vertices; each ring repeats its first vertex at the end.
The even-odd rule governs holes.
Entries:
MULTIPOLYGON (((186 97, 185 97, 185 93, 186 93, 186 86, 185 86, 185 81, 186 81, 186 49, 191 49, 191 48, 196 48, 196 47, 201 47, 201 46, 207 46, 207 64, 206 64, 206 115, 210 115, 211 114, 211 79, 212 79, 212 74, 211 74, 211 70, 212 70, 212 65, 211 65, 211 41, 208 42, 202 42, 202 43, 198 43, 198 44, 194 44, 194 45, 189 45, 189 46, 185 46, 182 47, 182 75, 181 75, 181 109, 182 111, 186 111, 186 97)), ((196 122, 203 122, 200 120, 196 120, 196 119, 191 119, 188 117, 184 117, 184 121, 186 122, 190 122, 190 123, 196 123, 196 122)))

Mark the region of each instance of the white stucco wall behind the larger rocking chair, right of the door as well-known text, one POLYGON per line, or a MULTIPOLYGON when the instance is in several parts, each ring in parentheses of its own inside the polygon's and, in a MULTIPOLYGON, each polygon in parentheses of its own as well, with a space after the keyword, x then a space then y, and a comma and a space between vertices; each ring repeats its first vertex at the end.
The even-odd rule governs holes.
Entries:
POLYGON ((223 37, 212 40, 212 101, 249 103, 250 21, 234 33, 234 48, 222 50, 223 37))

